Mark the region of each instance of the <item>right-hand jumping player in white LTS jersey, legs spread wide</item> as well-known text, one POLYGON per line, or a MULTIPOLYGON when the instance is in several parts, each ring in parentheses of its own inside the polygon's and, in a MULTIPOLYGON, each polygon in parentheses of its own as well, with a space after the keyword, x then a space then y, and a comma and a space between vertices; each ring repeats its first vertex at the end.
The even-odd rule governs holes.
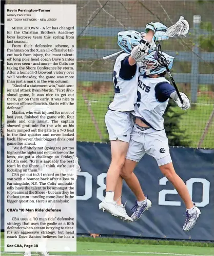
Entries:
MULTIPOLYGON (((174 57, 165 53, 163 55, 170 70, 174 57)), ((169 98, 172 98, 183 110, 190 108, 190 102, 187 96, 180 92, 183 99, 183 104, 181 103, 176 90, 164 77, 166 67, 158 61, 156 51, 151 52, 142 60, 142 69, 146 75, 140 76, 138 80, 138 99, 134 111, 132 111, 134 126, 131 131, 126 161, 121 171, 121 176, 137 197, 131 218, 138 220, 142 213, 151 207, 151 201, 144 196, 139 182, 136 182, 132 173, 134 167, 147 153, 157 161, 162 174, 173 184, 183 199, 186 206, 183 231, 189 231, 196 224, 201 212, 194 206, 184 181, 174 170, 164 130, 163 114, 169 98)), ((115 196, 120 197, 121 193, 115 196)))

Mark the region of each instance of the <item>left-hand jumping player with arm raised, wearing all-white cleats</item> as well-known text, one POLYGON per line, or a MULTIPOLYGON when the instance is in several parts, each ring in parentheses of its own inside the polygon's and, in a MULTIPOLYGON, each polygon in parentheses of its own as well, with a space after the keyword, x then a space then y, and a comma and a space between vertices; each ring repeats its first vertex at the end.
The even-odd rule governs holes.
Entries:
MULTIPOLYGON (((116 58, 114 64, 113 82, 115 95, 105 116, 105 123, 111 142, 111 164, 106 178, 106 196, 99 204, 99 209, 108 211, 113 216, 121 217, 128 221, 132 221, 132 219, 127 215, 125 207, 121 204, 121 199, 118 200, 114 196, 114 192, 125 162, 133 127, 133 118, 130 115, 130 111, 134 110, 134 104, 137 101, 141 61, 151 48, 154 33, 166 31, 167 29, 166 26, 159 22, 150 23, 150 27, 152 29, 148 29, 144 38, 141 37, 139 32, 133 30, 118 33, 118 45, 125 53, 116 58), (116 201, 118 201, 118 204, 116 201)), ((165 39, 168 38, 166 37, 165 39)), ((121 178, 120 186, 122 186, 121 178)))

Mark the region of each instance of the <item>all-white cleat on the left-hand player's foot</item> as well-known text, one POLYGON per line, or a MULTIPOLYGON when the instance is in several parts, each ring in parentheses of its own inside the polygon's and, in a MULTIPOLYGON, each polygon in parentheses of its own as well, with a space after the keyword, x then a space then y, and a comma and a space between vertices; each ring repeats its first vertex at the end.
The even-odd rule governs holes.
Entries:
MULTIPOLYGON (((101 211, 107 211, 109 212, 112 216, 118 218, 118 217, 122 217, 124 219, 128 219, 130 217, 127 218, 127 213, 125 214, 124 211, 121 211, 121 208, 118 208, 117 204, 115 201, 113 202, 106 202, 106 200, 104 199, 100 204, 99 204, 99 209, 101 211)), ((131 221, 131 218, 130 218, 131 221)))

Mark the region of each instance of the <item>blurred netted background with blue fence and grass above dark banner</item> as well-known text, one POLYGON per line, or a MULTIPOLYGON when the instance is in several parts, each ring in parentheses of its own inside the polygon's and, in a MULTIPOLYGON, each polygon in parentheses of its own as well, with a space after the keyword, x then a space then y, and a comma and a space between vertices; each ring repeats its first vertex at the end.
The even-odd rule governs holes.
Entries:
MULTIPOLYGON (((6 1, 35 4, 35 1, 6 1)), ((176 23, 184 15, 186 38, 169 39, 162 48, 176 57, 173 76, 191 100, 183 112, 170 101, 165 128, 171 146, 214 148, 214 2, 213 1, 36 1, 36 4, 77 5, 77 140, 107 142, 104 117, 113 98, 117 33, 144 31, 147 23, 176 23)), ((69 25, 69 24, 68 24, 69 25)))

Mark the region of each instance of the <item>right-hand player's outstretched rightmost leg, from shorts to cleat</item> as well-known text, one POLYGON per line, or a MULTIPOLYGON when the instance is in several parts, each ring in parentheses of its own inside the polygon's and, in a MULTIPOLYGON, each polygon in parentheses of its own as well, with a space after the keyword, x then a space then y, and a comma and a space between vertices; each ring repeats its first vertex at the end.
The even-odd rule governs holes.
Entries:
POLYGON ((146 152, 156 159, 161 172, 172 183, 185 203, 186 220, 183 226, 183 230, 189 231, 196 224, 196 220, 201 212, 197 207, 193 205, 186 184, 174 170, 169 153, 166 133, 164 130, 149 133, 146 134, 145 140, 147 145, 146 152))

